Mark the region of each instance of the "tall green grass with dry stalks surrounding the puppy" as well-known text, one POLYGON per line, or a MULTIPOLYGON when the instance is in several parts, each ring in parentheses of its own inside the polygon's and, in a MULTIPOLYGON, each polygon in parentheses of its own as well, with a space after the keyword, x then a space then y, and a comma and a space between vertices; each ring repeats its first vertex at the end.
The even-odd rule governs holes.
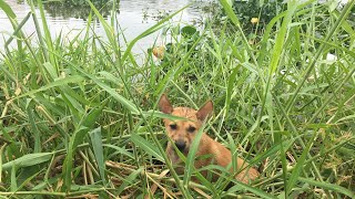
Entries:
POLYGON ((125 46, 114 19, 88 3, 84 36, 67 41, 51 38, 41 1, 40 23, 32 1, 17 21, 0 0, 13 25, 0 62, 1 198, 354 198, 354 0, 341 11, 290 1, 253 42, 221 0, 229 20, 217 29, 207 23, 182 35, 171 22, 182 9, 125 46), (94 19, 108 40, 91 32, 94 19), (29 20, 36 40, 22 32, 29 20), (164 59, 148 53, 139 64, 133 45, 161 30, 172 32, 164 59), (178 176, 163 149, 166 115, 155 111, 164 92, 183 106, 213 100, 209 135, 258 167, 261 178, 244 185, 222 170, 211 182, 191 166, 178 176))

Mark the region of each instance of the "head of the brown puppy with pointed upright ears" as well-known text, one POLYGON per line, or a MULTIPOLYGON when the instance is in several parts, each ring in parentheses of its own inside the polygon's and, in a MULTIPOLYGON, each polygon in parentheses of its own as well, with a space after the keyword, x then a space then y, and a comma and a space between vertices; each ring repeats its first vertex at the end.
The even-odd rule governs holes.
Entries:
POLYGON ((186 121, 171 121, 168 118, 163 121, 168 136, 182 153, 187 154, 190 145, 201 128, 202 123, 212 114, 213 103, 207 101, 199 111, 189 107, 174 108, 166 95, 163 94, 159 101, 159 109, 164 114, 186 118, 186 121))

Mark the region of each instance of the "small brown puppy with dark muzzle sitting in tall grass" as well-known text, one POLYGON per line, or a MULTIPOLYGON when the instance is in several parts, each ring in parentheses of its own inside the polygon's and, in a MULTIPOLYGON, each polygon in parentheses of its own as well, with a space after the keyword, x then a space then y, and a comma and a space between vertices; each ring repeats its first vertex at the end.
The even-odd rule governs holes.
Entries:
MULTIPOLYGON (((190 146, 201 128, 203 122, 211 116, 213 112, 213 103, 211 101, 206 102, 199 111, 189 107, 173 107, 166 95, 162 95, 159 101, 159 108, 165 114, 171 114, 179 117, 185 117, 189 121, 170 121, 164 118, 164 125, 168 132, 168 136, 173 142, 168 143, 166 154, 173 165, 182 164, 182 160, 179 158, 173 144, 176 148, 187 156, 190 146)), ((206 155, 207 158, 200 158, 195 160, 195 168, 202 168, 204 166, 215 164, 222 167, 227 167, 232 161, 231 151, 225 148, 220 143, 213 140, 205 133, 203 133, 199 148, 196 151, 196 157, 206 155)), ((255 179, 258 176, 258 172, 254 168, 247 168, 248 164, 245 163, 242 158, 237 158, 237 170, 242 169, 236 175, 236 179, 244 184, 247 184, 250 180, 255 179)), ((176 170, 179 174, 183 174, 183 168, 176 170)), ((233 171, 233 169, 231 169, 233 171)), ((206 176, 206 170, 202 175, 206 176)), ((216 180, 217 176, 213 176, 213 180, 216 180)))

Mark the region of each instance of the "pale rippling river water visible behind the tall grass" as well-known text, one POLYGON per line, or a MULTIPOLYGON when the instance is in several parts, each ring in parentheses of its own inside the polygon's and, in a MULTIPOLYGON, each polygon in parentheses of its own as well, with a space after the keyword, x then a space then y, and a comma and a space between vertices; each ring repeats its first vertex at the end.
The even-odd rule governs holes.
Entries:
MULTIPOLYGON (((4 0, 17 14, 17 20, 20 23, 23 18, 31 11, 30 6, 26 1, 19 0, 4 0)), ((101 8, 102 4, 99 1, 101 8)), ((121 0, 119 1, 119 9, 115 12, 118 22, 123 30, 123 34, 128 41, 133 40, 143 31, 154 25, 158 20, 169 13, 190 4, 187 9, 178 14, 173 19, 174 22, 183 23, 196 23, 203 19, 202 8, 211 6, 211 0, 121 0)), ((101 14, 105 20, 111 19, 111 7, 102 9, 101 14)), ((67 41, 72 40, 82 30, 85 29, 87 18, 90 12, 90 7, 87 4, 71 4, 69 1, 61 2, 48 2, 44 3, 44 15, 51 31, 52 38, 59 34, 67 41)), ((37 17, 40 18, 40 11, 36 8, 37 17)), ((41 20, 39 20, 41 22, 41 20)), ((95 21, 94 33, 98 36, 105 39, 105 33, 99 21, 95 21)), ((34 41, 37 40, 36 27, 33 19, 27 21, 22 31, 26 35, 34 41)), ((0 9, 0 51, 3 52, 3 46, 9 36, 13 33, 12 25, 7 18, 6 13, 0 9)), ((159 41, 159 32, 148 38, 140 40, 133 48, 134 53, 146 52, 146 49, 152 46, 155 39, 156 43, 163 44, 163 41, 159 41)), ((16 46, 16 42, 12 42, 10 46, 16 46)))

